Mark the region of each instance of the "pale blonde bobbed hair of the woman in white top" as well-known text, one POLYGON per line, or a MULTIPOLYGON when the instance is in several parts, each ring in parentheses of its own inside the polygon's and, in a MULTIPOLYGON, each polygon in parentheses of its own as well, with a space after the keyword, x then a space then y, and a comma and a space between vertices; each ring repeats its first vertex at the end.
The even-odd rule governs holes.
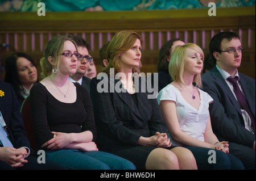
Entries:
MULTIPOLYGON (((196 44, 187 43, 183 46, 177 47, 174 50, 174 52, 172 53, 172 56, 171 56, 170 63, 169 63, 169 73, 170 73, 173 81, 181 82, 183 84, 184 84, 184 81, 182 79, 182 75, 183 75, 183 71, 184 71, 185 50, 188 48, 191 48, 191 49, 195 50, 196 52, 200 53, 203 58, 203 61, 204 61, 204 52, 196 44)), ((193 78, 193 82, 196 83, 197 87, 202 87, 201 74, 196 74, 193 78)))

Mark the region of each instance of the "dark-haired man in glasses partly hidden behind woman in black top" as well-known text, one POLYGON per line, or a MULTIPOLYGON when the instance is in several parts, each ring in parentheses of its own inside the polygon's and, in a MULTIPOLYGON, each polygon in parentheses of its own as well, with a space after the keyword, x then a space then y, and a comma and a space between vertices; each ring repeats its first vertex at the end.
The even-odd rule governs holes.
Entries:
POLYGON ((89 56, 88 52, 90 49, 90 45, 80 36, 73 35, 68 37, 76 41, 77 50, 81 54, 81 56, 77 58, 77 71, 75 74, 70 75, 69 79, 72 82, 78 82, 80 85, 84 86, 90 93, 90 78, 84 76, 88 68, 87 62, 92 61, 92 57, 89 56))

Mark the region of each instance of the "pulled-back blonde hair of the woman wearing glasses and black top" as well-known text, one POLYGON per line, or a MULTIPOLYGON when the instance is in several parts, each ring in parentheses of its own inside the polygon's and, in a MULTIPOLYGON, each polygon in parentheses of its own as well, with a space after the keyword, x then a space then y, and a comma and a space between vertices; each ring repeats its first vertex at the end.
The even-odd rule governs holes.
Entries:
POLYGON ((64 42, 67 40, 71 41, 75 45, 75 47, 77 47, 75 41, 73 41, 69 37, 63 36, 63 35, 58 35, 58 36, 53 37, 46 44, 46 47, 44 48, 43 57, 40 60, 40 65, 42 68, 42 73, 41 73, 42 78, 45 78, 45 77, 51 75, 53 68, 59 72, 61 53, 63 50, 64 42), (56 64, 54 67, 48 61, 48 57, 50 57, 50 56, 53 58, 53 63, 56 64))

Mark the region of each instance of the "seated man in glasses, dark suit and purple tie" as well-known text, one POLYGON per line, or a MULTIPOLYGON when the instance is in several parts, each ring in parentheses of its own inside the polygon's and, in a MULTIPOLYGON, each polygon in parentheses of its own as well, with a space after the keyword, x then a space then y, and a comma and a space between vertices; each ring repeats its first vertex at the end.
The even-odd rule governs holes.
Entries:
POLYGON ((234 32, 213 36, 209 51, 216 66, 202 75, 202 82, 214 99, 209 106, 213 132, 220 141, 229 141, 229 152, 246 169, 255 169, 255 79, 238 73, 242 49, 234 32), (235 78, 234 85, 229 77, 235 78))

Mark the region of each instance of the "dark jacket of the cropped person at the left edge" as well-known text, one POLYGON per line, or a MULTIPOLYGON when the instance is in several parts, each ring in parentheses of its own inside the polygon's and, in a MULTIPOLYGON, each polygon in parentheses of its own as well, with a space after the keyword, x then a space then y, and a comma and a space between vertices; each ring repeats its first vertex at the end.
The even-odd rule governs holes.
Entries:
POLYGON ((18 97, 13 87, 9 83, 0 81, 0 90, 5 92, 5 95, 0 96, 0 110, 14 148, 18 149, 26 146, 32 151, 24 128, 22 115, 19 112, 20 104, 18 97))

